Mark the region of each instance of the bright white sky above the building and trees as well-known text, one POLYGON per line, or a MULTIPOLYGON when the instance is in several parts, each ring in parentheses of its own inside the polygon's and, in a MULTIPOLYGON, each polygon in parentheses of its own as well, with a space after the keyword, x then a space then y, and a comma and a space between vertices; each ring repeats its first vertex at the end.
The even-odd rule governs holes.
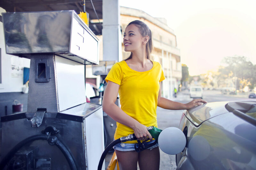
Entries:
POLYGON ((256 0, 119 0, 120 6, 165 18, 189 75, 217 71, 226 56, 256 64, 256 0))

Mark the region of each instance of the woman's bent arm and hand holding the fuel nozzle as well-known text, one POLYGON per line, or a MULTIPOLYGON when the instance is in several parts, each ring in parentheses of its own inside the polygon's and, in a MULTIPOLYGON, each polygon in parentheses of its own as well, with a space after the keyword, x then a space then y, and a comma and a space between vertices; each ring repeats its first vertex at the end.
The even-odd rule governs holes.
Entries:
POLYGON ((112 119, 119 122, 125 126, 128 126, 134 130, 135 136, 139 140, 144 140, 149 138, 152 141, 152 136, 147 130, 145 125, 140 124, 137 120, 133 119, 131 116, 127 115, 122 109, 120 109, 116 104, 116 97, 118 94, 119 85, 108 81, 107 87, 104 91, 102 107, 103 111, 106 112, 112 119))

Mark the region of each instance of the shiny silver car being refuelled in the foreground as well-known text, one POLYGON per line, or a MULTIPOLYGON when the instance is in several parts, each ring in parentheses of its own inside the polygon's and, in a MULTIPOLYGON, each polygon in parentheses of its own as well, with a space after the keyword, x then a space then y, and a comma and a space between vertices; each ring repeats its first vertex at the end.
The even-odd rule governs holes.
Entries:
POLYGON ((256 169, 256 101, 211 102, 185 110, 187 138, 176 170, 256 169))

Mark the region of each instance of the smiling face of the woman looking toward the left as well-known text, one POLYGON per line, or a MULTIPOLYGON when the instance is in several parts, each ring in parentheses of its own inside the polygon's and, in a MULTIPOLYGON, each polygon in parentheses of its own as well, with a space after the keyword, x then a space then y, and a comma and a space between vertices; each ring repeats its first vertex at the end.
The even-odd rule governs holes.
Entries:
POLYGON ((144 37, 140 34, 139 28, 131 24, 124 31, 124 51, 135 51, 142 48, 144 37))

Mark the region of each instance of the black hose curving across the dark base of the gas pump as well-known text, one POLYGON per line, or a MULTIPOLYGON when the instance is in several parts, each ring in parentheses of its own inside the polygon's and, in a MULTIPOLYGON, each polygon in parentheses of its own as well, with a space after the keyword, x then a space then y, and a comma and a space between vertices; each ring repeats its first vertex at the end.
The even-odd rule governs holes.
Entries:
MULTIPOLYGON (((54 136, 55 137, 55 136, 54 136)), ((57 137, 56 137, 57 138, 57 137)), ((6 165, 7 162, 10 161, 10 159, 12 158, 12 156, 25 144, 28 144, 29 142, 33 142, 35 140, 48 140, 48 136, 47 135, 34 135, 31 137, 28 137, 24 140, 22 140, 21 142, 19 142, 18 144, 16 144, 12 150, 10 152, 7 153, 7 155, 2 159, 1 163, 0 163, 0 169, 4 169, 4 166, 6 165)), ((70 152, 68 152, 68 149, 58 140, 55 141, 57 145, 57 147, 60 149, 60 151, 64 154, 65 158, 68 161, 68 164, 71 168, 71 170, 76 170, 76 165, 74 162, 74 159, 72 157, 72 155, 70 154, 70 152)))

